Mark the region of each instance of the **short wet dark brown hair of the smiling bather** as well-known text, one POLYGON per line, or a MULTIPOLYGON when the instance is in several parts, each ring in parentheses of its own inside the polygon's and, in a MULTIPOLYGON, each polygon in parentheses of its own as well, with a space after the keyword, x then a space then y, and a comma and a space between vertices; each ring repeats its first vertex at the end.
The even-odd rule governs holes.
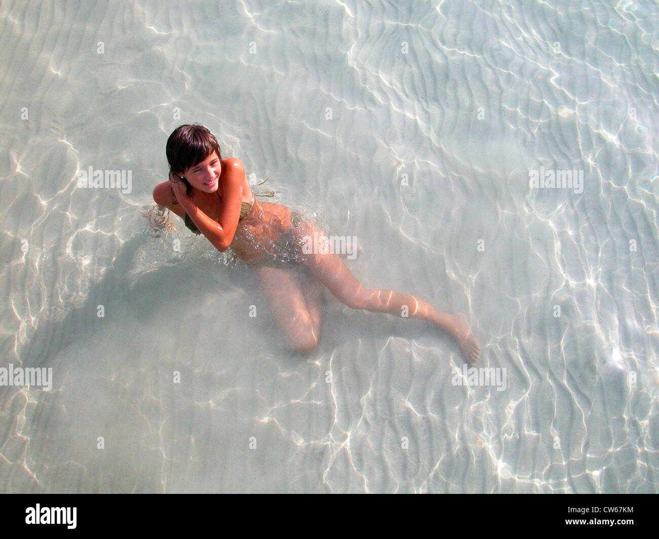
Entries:
POLYGON ((200 123, 179 125, 167 139, 167 163, 169 170, 181 178, 185 183, 188 193, 192 186, 183 177, 183 173, 190 167, 201 163, 213 152, 222 159, 222 154, 217 144, 217 138, 206 127, 200 123))

